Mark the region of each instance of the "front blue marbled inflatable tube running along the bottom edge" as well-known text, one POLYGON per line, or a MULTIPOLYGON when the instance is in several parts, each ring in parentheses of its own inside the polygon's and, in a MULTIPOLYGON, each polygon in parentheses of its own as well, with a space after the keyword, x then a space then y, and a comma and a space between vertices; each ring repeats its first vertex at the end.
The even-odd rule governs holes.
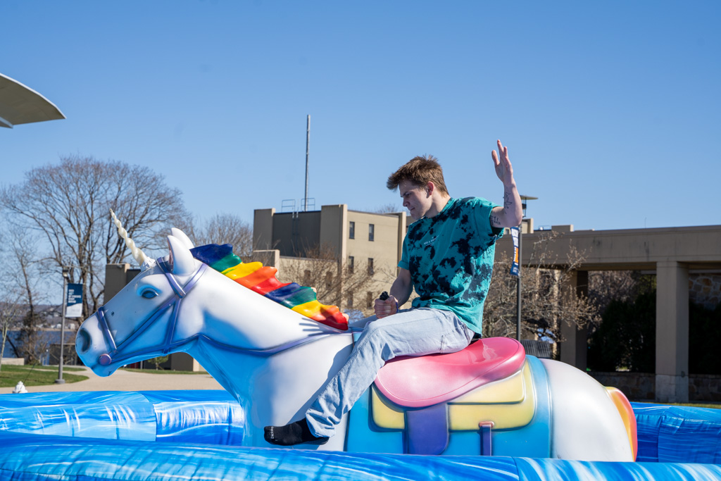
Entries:
POLYGON ((323 453, 138 444, 7 433, 0 479, 40 480, 720 480, 715 464, 577 462, 502 456, 323 453), (10 445, 10 446, 9 446, 10 445))

